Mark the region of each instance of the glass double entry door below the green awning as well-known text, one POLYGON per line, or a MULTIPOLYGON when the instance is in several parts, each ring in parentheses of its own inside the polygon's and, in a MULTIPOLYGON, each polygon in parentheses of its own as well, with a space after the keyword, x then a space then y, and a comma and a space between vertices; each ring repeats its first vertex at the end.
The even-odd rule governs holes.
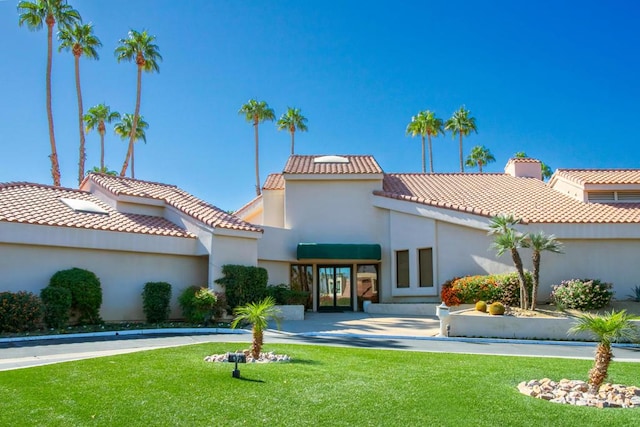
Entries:
POLYGON ((318 266, 318 310, 352 310, 351 267, 318 266))

